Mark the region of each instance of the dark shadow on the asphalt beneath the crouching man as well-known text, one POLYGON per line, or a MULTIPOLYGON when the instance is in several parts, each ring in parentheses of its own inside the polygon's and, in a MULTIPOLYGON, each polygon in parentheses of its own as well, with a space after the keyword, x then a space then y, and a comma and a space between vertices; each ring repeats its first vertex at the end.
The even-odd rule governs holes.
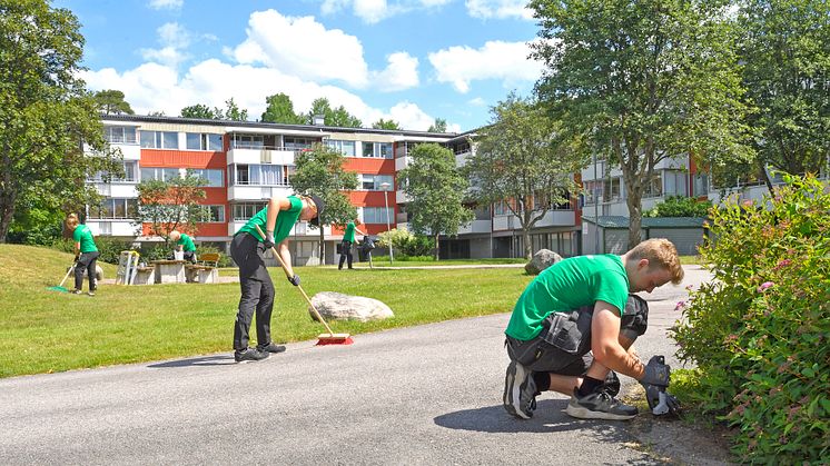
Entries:
POLYGON ((602 436, 609 440, 629 438, 624 434, 617 433, 617 430, 623 430, 621 425, 617 425, 617 422, 574 419, 563 413, 566 406, 566 399, 545 399, 538 401, 533 417, 525 420, 516 419, 508 415, 502 405, 448 413, 436 417, 434 420, 438 426, 460 430, 555 433, 586 429, 590 432, 602 430, 602 436))

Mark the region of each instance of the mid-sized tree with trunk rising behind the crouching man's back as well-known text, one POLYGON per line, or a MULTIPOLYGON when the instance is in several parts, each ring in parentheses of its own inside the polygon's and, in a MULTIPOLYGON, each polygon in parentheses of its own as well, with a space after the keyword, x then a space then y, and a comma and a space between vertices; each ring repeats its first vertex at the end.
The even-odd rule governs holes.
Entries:
POLYGON ((573 173, 585 165, 561 125, 532 99, 514 93, 491 109, 491 125, 475 137, 477 149, 466 160, 480 204, 504 204, 518 219, 524 256, 533 257, 530 231, 556 205, 570 201, 577 187, 573 173))

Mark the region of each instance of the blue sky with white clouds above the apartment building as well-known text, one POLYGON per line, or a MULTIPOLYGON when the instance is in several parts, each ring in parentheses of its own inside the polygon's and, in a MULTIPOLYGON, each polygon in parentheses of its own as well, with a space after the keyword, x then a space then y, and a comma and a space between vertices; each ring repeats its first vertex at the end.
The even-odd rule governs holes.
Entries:
POLYGON ((91 90, 119 89, 137 113, 225 107, 251 119, 284 92, 295 111, 326 97, 379 118, 451 131, 490 121, 541 65, 525 0, 55 0, 80 20, 91 90))

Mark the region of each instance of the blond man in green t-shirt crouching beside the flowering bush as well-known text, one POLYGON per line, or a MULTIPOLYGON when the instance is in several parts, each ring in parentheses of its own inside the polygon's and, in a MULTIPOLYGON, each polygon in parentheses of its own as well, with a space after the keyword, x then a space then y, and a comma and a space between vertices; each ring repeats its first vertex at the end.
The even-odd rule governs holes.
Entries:
POLYGON ((651 293, 682 279, 678 251, 662 238, 622 256, 572 257, 543 270, 518 298, 505 330, 511 363, 504 408, 527 419, 536 395, 555 390, 571 396, 565 413, 573 417, 634 417, 635 407, 614 398, 619 381, 610 371, 633 377, 653 393, 669 385, 670 369, 656 357, 644 365, 631 350, 645 331, 648 305, 629 293, 651 293))

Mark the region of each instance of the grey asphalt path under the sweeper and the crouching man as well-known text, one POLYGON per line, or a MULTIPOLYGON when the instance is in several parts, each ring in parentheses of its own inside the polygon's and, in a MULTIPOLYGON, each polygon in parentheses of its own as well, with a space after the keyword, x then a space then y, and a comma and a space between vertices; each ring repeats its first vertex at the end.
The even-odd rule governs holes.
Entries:
MULTIPOLYGON (((651 297, 642 357, 673 360, 674 306, 707 277, 690 271, 651 297)), ((508 317, 292 344, 260 363, 228 353, 1 379, 0 464, 659 463, 631 447, 625 422, 566 416, 562 395, 542 395, 530 420, 508 416, 508 317)))

